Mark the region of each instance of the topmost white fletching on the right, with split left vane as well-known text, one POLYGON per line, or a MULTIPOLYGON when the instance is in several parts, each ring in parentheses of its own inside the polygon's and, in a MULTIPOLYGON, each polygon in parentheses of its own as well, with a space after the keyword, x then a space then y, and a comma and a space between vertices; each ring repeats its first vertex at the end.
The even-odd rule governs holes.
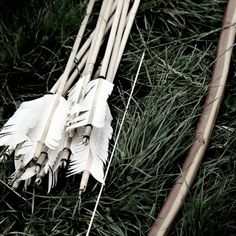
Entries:
POLYGON ((75 118, 69 121, 67 131, 87 124, 102 128, 105 125, 107 99, 112 89, 113 83, 107 80, 90 81, 82 101, 71 107, 70 117, 75 118))

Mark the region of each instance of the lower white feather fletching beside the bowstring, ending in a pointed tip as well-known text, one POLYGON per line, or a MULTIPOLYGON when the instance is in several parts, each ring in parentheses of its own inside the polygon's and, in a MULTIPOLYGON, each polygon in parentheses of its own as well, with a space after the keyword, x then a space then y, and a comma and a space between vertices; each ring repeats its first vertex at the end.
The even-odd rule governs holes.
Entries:
POLYGON ((112 137, 112 116, 107 106, 103 128, 93 127, 89 144, 83 143, 83 127, 77 129, 71 144, 71 158, 68 176, 89 171, 99 182, 104 179, 104 164, 108 157, 109 140, 112 137))

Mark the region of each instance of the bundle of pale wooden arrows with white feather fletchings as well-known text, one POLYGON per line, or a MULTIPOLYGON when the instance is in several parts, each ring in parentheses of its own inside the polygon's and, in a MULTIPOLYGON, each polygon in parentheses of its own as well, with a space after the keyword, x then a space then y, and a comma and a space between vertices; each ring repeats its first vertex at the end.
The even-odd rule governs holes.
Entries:
POLYGON ((25 188, 32 181, 40 184, 48 176, 50 191, 66 166, 68 176, 82 173, 80 191, 90 174, 103 182, 112 137, 107 99, 139 2, 103 0, 96 27, 80 47, 95 4, 90 0, 65 70, 50 93, 22 103, 4 125, 0 145, 14 156, 13 189, 21 182, 25 188))

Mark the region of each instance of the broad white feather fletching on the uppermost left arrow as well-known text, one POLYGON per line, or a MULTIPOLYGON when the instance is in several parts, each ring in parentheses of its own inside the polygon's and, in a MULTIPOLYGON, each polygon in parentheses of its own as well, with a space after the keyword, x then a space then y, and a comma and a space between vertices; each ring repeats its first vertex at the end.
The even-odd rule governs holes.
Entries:
POLYGON ((57 99, 59 99, 59 105, 53 114, 51 127, 46 137, 47 145, 55 148, 61 138, 69 109, 69 103, 56 94, 47 94, 33 101, 22 103, 1 130, 0 146, 16 146, 26 140, 38 142, 57 99))

